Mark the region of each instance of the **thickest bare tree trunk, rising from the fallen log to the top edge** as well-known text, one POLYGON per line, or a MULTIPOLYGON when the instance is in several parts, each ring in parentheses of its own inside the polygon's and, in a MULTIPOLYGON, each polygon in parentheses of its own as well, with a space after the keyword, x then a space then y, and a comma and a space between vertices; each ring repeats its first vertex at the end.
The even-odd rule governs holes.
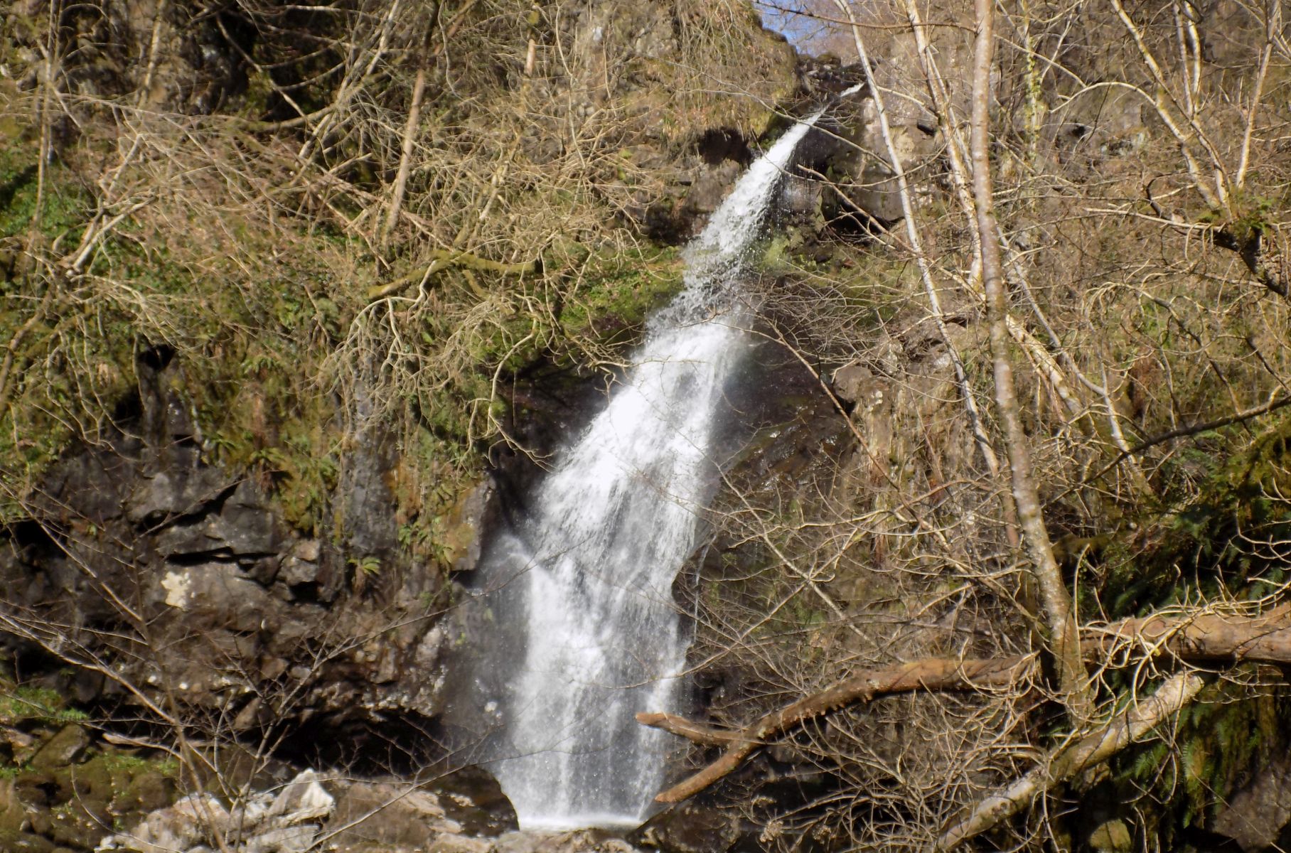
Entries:
POLYGON ((972 117, 970 121, 970 150, 972 159, 972 190, 976 206, 977 235, 981 245, 981 276, 986 292, 986 323, 990 326, 990 354, 995 374, 995 405, 1004 427, 1008 466, 1012 476, 1013 503, 1022 529, 1032 570, 1039 588, 1041 605, 1048 630, 1050 652, 1053 656, 1062 702, 1072 716, 1073 727, 1088 721, 1093 712, 1088 679, 1081 661, 1081 640, 1077 632, 1072 596, 1062 583, 1062 573, 1053 559, 1053 546, 1041 514, 1039 494, 1032 477, 1026 434, 1017 408, 1013 387, 1013 368, 1008 356, 1007 305, 1004 302, 1004 275, 995 239, 997 225, 990 179, 990 66, 994 50, 994 6, 991 0, 976 0, 977 43, 973 52, 972 117))

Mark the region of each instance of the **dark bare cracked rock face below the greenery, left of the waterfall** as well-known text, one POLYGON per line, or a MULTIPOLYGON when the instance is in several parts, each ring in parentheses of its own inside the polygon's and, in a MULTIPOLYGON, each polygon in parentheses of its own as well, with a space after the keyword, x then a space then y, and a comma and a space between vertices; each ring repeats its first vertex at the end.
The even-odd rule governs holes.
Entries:
POLYGON ((235 737, 435 716, 445 581, 395 538, 380 440, 346 459, 334 537, 302 534, 271 484, 207 461, 177 376, 147 361, 136 410, 70 448, 10 532, 14 666, 39 672, 54 647, 85 667, 70 676, 81 702, 170 702, 235 737))

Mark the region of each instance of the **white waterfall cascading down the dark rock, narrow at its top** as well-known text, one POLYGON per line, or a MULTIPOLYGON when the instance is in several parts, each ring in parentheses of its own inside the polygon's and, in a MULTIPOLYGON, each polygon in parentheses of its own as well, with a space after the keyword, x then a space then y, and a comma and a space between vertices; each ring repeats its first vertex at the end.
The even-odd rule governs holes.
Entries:
POLYGON ((744 348, 733 286, 817 117, 757 160, 687 246, 684 289, 607 408, 560 450, 531 516, 491 543, 494 618, 524 644, 485 663, 505 685, 491 768, 524 828, 638 823, 662 785, 671 737, 634 715, 673 707, 684 665, 671 586, 711 497, 717 413, 744 348))

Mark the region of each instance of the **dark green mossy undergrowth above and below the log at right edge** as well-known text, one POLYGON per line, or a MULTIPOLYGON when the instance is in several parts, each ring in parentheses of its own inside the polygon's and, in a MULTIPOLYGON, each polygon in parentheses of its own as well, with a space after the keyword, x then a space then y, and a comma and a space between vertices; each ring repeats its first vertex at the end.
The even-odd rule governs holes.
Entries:
MULTIPOLYGON (((1190 466, 1193 497, 1091 552, 1083 613, 1143 616, 1206 600, 1259 600, 1281 592, 1291 557, 1291 418, 1261 430, 1195 437, 1175 465, 1190 466)), ((1131 672, 1109 674, 1128 696, 1131 672)), ((1278 676, 1273 676, 1279 680, 1278 676)), ((1254 665, 1225 671, 1179 715, 1177 728, 1118 755, 1093 798, 1139 801, 1162 841, 1206 828, 1229 794, 1285 748, 1291 706, 1254 665)))

